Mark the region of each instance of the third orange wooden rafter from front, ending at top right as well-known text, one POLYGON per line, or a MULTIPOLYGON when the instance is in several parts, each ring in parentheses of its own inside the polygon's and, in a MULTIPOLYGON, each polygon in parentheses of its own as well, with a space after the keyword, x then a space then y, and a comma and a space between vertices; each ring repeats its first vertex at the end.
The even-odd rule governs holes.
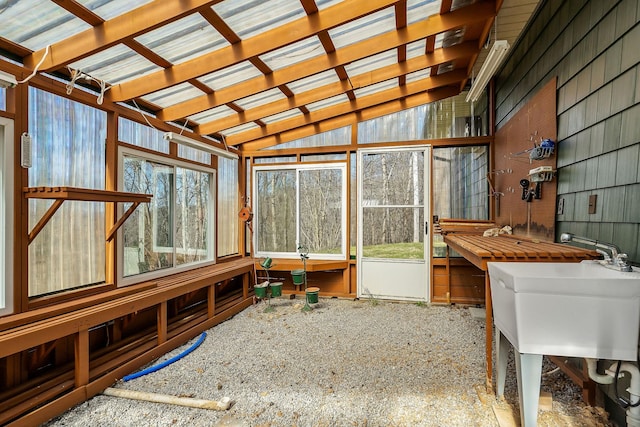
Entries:
MULTIPOLYGON (((396 32, 389 32, 372 37, 365 41, 338 49, 331 54, 311 58, 290 67, 276 70, 268 77, 249 79, 240 84, 218 90, 214 94, 199 96, 167 107, 158 113, 158 117, 162 120, 173 120, 206 111, 226 102, 272 89, 279 85, 287 84, 386 50, 395 49, 398 46, 414 42, 430 35, 458 28, 470 22, 486 20, 494 16, 494 14, 494 3, 482 2, 457 9, 446 15, 434 15, 396 32)), ((115 88, 114 86, 107 92, 107 95, 113 93, 115 88)))

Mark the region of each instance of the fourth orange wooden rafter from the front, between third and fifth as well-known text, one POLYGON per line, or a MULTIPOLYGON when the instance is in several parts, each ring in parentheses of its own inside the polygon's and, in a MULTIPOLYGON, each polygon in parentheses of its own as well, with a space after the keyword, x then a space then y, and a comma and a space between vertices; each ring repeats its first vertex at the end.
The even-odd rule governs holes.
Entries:
POLYGON ((262 105, 260 107, 246 110, 244 111, 242 116, 232 115, 208 123, 203 123, 195 128, 195 132, 202 135, 213 134, 215 132, 219 132, 221 130, 228 129, 234 126, 239 126, 241 124, 259 119, 261 117, 271 116, 273 114, 287 111, 292 108, 301 107, 313 102, 331 98, 332 96, 339 95, 341 93, 345 93, 348 90, 352 89, 351 84, 353 84, 353 88, 358 89, 395 77, 400 77, 414 71, 429 68, 436 64, 454 61, 459 58, 470 57, 474 53, 476 53, 477 50, 477 43, 473 41, 465 42, 444 49, 438 49, 436 52, 429 55, 421 55, 409 59, 403 64, 391 64, 386 67, 377 69, 375 73, 363 73, 354 76, 351 78, 351 83, 345 81, 329 83, 319 88, 300 93, 289 99, 280 99, 262 105))

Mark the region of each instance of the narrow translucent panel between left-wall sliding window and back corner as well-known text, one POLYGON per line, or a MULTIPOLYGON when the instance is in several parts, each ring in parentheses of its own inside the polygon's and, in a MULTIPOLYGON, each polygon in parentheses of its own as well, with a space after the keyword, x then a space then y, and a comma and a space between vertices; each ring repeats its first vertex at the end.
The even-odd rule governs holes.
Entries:
POLYGON ((238 249, 238 160, 218 157, 218 256, 238 249))

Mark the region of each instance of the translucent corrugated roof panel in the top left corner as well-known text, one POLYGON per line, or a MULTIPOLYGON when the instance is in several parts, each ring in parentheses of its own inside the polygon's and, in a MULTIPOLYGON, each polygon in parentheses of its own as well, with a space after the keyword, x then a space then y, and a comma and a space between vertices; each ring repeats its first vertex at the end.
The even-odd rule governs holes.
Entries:
POLYGON ((50 1, 0 1, 0 21, 0 37, 31 50, 44 49, 91 28, 50 1))

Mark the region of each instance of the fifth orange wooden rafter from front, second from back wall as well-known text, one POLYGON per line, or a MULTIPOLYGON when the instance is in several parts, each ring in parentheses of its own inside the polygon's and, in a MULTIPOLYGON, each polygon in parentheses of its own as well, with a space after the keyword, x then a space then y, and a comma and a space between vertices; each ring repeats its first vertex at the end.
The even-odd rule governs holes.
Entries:
MULTIPOLYGON (((456 70, 440 76, 427 77, 425 79, 411 82, 405 86, 398 86, 387 89, 372 95, 364 96, 353 101, 343 102, 331 107, 312 111, 299 117, 282 120, 258 129, 248 130, 239 134, 230 135, 226 138, 227 144, 238 145, 265 136, 285 132, 310 123, 320 122, 336 116, 342 116, 352 111, 360 111, 375 105, 384 104, 393 99, 401 99, 420 92, 437 89, 461 82, 467 77, 466 70, 456 70)), ((459 91, 459 84, 456 86, 459 91)))

